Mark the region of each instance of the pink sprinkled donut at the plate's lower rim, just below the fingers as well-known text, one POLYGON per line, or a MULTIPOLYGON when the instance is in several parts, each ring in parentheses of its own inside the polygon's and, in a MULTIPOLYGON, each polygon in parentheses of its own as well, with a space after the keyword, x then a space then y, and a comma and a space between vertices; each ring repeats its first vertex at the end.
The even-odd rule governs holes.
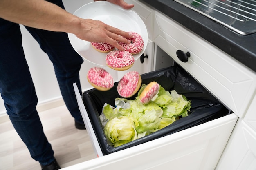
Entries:
POLYGON ((114 50, 106 56, 106 64, 114 70, 128 70, 134 62, 134 57, 127 51, 114 50))

